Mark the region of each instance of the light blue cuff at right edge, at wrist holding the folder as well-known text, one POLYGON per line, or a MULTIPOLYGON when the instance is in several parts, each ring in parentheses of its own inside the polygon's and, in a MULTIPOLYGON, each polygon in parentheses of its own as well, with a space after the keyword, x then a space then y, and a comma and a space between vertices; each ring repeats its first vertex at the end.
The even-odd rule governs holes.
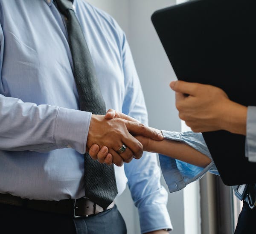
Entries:
POLYGON ((256 106, 248 106, 245 155, 249 162, 256 163, 256 106))

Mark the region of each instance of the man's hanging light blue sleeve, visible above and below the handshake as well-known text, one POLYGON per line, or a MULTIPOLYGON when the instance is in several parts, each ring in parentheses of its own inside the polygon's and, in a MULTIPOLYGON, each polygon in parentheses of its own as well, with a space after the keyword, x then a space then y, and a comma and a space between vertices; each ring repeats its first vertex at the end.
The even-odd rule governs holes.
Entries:
MULTIPOLYGON (((148 126, 148 113, 143 91, 124 34, 122 45, 125 77, 122 112, 148 126)), ((166 207, 168 192, 160 184, 161 171, 157 155, 144 152, 143 157, 125 163, 124 168, 131 196, 140 215, 141 232, 146 233, 165 228, 171 230, 172 224, 166 207)))

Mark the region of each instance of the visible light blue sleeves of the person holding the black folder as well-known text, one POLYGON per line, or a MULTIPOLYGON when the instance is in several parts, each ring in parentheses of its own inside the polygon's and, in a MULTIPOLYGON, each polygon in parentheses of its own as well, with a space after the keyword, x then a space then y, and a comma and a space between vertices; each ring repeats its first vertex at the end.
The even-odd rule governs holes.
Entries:
MULTIPOLYGON (((204 141, 204 137, 201 133, 194 133, 192 131, 180 133, 164 130, 162 130, 162 132, 166 139, 186 143, 211 159, 211 163, 206 168, 201 168, 160 154, 160 165, 162 168, 163 177, 165 178, 170 192, 175 192, 186 187, 186 185, 189 183, 203 177, 207 171, 211 172, 212 174, 219 175, 218 170, 212 161, 211 154, 204 141)), ((245 144, 245 156, 248 157, 250 162, 256 162, 255 106, 248 107, 245 144)))

